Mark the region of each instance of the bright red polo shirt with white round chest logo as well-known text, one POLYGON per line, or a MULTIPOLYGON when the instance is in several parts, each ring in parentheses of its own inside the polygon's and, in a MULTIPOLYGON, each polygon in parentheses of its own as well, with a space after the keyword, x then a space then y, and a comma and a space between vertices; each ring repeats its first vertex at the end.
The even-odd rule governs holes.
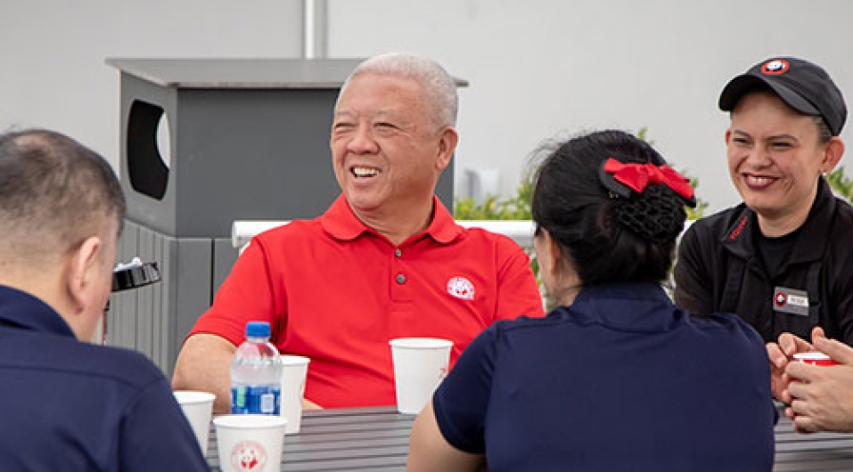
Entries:
POLYGON ((524 250, 455 224, 434 203, 426 231, 396 247, 358 221, 342 196, 319 218, 259 234, 190 336, 240 345, 247 321, 269 321, 279 351, 311 358, 308 400, 396 403, 390 339, 451 339, 452 363, 493 321, 544 315, 524 250))

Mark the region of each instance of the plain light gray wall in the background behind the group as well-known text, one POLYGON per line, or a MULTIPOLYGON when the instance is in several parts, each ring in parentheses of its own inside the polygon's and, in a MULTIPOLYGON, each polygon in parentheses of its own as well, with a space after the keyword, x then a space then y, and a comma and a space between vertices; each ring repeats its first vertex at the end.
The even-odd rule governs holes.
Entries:
MULTIPOLYGON (((499 167, 513 191, 529 151, 554 134, 648 126, 723 208, 737 201, 716 108, 729 77, 769 55, 801 55, 853 97, 848 0, 329 0, 328 12, 331 57, 414 51, 471 82, 457 189, 465 168, 499 167)), ((119 74, 105 57, 301 51, 299 0, 4 1, 0 17, 0 128, 62 130, 114 164, 119 74)))

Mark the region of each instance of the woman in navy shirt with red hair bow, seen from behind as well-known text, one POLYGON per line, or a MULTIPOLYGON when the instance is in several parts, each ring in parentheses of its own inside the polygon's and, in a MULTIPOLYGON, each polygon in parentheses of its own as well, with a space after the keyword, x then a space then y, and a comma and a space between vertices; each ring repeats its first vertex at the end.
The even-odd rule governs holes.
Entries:
POLYGON ((759 335, 693 319, 667 280, 687 180, 630 134, 562 142, 537 172, 534 247, 557 308, 476 338, 412 430, 411 471, 770 470, 759 335))

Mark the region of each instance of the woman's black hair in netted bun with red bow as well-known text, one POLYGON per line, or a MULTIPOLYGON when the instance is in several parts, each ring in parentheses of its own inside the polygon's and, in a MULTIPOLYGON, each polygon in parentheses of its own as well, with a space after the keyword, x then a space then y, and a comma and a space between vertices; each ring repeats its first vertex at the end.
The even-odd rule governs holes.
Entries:
POLYGON ((533 220, 551 234, 584 286, 668 278, 693 189, 665 165, 651 145, 621 131, 552 146, 537 169, 533 220), (623 183, 644 180, 641 191, 623 183))

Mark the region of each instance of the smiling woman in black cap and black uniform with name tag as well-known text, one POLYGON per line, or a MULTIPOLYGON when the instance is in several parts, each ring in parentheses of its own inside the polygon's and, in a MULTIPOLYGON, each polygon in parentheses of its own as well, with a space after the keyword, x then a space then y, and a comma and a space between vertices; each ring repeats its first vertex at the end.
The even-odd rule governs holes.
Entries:
MULTIPOLYGON (((743 203, 685 233, 676 302, 749 321, 770 343, 774 395, 786 400, 783 333, 853 344, 853 208, 822 177, 844 153, 847 107, 824 69, 790 57, 734 77, 719 106, 731 112, 728 166, 743 203)), ((784 343, 785 354, 795 345, 784 343)))

